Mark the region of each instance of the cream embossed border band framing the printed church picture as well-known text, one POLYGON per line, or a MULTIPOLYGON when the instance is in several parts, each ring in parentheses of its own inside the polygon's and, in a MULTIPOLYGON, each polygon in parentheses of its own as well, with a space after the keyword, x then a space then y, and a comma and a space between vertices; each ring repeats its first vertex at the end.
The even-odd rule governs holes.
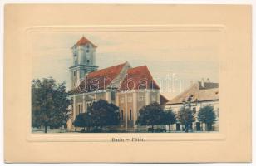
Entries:
MULTIPOLYGON (((219 38, 219 54, 224 53, 224 25, 102 25, 102 26, 86 26, 86 27, 27 27, 27 57, 32 58, 30 51, 32 49, 31 34, 37 32, 219 32, 222 37, 219 38)), ((219 57, 217 57, 219 59, 219 57)), ((224 61, 219 61, 219 73, 222 72, 224 61)), ((32 70, 32 69, 31 69, 32 70)), ((221 80, 221 79, 219 79, 221 80)), ((221 82, 220 82, 220 91, 221 82)), ((31 92, 27 93, 31 94, 31 92)), ((224 94, 223 94, 224 95, 224 94)), ((29 96, 31 98, 31 96, 29 96)), ((220 110, 221 110, 220 93, 220 110)), ((228 108, 226 110, 229 110, 228 108)), ((31 112, 27 112, 30 114, 31 112)), ((111 142, 112 138, 130 139, 131 137, 143 138, 145 141, 180 141, 180 140, 223 140, 225 139, 225 120, 228 117, 228 111, 220 111, 219 132, 214 133, 60 133, 60 134, 34 134, 31 133, 31 119, 27 120, 27 140, 29 141, 89 141, 89 142, 111 142), (222 116, 224 117, 222 122, 222 116)))

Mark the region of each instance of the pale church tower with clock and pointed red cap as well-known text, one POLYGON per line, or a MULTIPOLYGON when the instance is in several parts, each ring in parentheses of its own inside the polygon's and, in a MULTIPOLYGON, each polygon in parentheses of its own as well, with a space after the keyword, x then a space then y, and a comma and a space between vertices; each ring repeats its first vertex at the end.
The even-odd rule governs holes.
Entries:
POLYGON ((96 71, 98 66, 96 66, 96 46, 86 37, 81 37, 71 49, 73 65, 69 69, 71 71, 71 89, 74 89, 87 73, 96 71))

